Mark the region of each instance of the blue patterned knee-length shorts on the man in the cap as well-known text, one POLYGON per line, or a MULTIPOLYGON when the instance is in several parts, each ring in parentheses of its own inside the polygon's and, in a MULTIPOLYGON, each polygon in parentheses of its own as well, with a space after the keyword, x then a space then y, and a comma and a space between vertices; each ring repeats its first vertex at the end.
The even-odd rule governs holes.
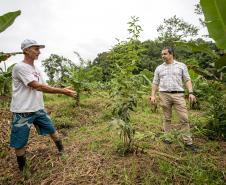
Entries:
POLYGON ((29 113, 13 113, 10 146, 16 149, 27 145, 32 125, 40 135, 55 133, 56 129, 45 110, 29 113))

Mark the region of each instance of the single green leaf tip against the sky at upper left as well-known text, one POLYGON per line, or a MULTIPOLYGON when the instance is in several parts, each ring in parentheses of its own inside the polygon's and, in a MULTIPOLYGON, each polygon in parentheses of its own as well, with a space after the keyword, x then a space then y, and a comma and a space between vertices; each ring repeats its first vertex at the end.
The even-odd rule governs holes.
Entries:
POLYGON ((10 25, 13 24, 14 20, 21 14, 21 11, 8 12, 0 16, 0 33, 5 31, 10 25))

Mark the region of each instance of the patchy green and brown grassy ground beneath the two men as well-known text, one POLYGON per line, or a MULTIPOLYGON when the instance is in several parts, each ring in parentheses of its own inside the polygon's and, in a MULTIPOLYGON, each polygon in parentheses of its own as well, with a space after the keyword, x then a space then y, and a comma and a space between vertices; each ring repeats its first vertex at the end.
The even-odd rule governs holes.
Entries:
MULTIPOLYGON (((38 136, 33 129, 27 149, 30 177, 24 179, 19 174, 13 151, 3 145, 0 184, 226 183, 226 144, 206 140, 197 132, 196 124, 204 119, 200 111, 190 111, 194 141, 202 149, 195 154, 177 142, 163 144, 161 110, 152 113, 144 98, 131 115, 135 144, 140 150, 121 156, 117 153, 122 144, 118 130, 109 129, 111 113, 106 93, 82 96, 80 107, 62 95, 45 95, 45 102, 63 138, 66 155, 58 156, 51 140, 38 136)), ((4 141, 7 143, 5 137, 4 141)))

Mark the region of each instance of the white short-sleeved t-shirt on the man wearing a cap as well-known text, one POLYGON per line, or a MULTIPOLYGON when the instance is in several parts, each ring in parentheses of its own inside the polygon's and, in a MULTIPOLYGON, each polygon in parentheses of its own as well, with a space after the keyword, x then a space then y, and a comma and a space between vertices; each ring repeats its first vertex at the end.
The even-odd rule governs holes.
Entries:
POLYGON ((10 110, 15 113, 35 112, 44 109, 43 94, 28 86, 32 81, 45 83, 40 71, 24 62, 16 64, 12 72, 12 101, 10 110))

